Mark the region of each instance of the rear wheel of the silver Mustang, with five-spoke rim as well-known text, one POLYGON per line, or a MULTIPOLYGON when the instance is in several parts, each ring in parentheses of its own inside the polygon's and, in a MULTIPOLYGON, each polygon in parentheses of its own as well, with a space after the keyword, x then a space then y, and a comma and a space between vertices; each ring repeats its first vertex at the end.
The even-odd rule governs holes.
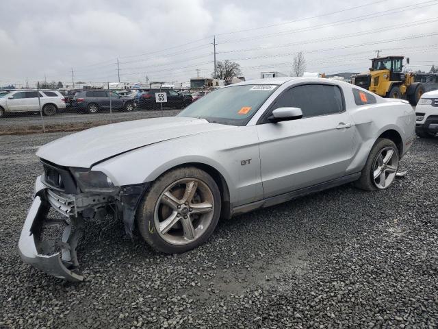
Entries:
POLYGON ((365 191, 385 190, 396 178, 398 159, 396 144, 387 138, 378 138, 355 186, 365 191))

